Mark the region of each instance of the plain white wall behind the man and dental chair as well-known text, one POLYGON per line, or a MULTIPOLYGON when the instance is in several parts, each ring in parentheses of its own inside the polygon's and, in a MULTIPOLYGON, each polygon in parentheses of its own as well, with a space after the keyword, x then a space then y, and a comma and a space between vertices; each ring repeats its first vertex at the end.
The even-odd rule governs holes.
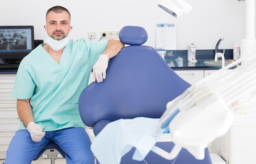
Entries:
POLYGON ((69 38, 86 38, 88 31, 119 31, 125 25, 138 25, 148 31, 147 45, 156 46, 156 23, 176 23, 177 49, 187 49, 189 42, 197 49, 214 49, 220 37, 220 48, 232 49, 243 35, 244 1, 187 0, 194 8, 189 14, 173 18, 157 3, 159 0, 1 0, 0 25, 34 25, 35 39, 47 37, 45 12, 62 5, 71 12, 73 29, 69 38))

